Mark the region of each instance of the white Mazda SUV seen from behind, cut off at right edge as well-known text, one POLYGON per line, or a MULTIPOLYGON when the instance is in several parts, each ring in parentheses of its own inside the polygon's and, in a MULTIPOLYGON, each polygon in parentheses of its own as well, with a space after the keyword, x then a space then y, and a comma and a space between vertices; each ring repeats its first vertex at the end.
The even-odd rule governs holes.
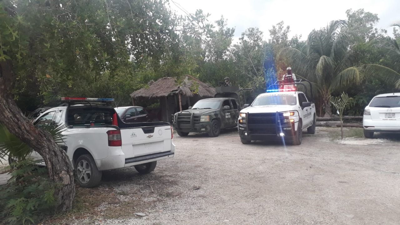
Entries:
POLYGON ((379 94, 365 107, 362 120, 364 136, 374 132, 400 133, 400 93, 379 94))

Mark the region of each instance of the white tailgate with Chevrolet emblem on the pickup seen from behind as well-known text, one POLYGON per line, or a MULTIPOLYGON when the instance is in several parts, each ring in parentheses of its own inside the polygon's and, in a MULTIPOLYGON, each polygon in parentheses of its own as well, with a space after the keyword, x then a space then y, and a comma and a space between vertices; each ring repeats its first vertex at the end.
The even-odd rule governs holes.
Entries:
POLYGON ((171 127, 149 126, 121 129, 125 158, 171 151, 171 127))

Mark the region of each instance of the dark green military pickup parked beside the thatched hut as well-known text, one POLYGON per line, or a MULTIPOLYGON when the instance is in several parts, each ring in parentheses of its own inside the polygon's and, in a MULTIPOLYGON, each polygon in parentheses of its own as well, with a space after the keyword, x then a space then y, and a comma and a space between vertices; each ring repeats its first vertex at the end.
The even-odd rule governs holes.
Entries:
POLYGON ((207 132, 210 137, 217 137, 221 129, 237 126, 240 110, 236 98, 205 98, 188 110, 175 113, 172 124, 182 137, 190 132, 207 132))

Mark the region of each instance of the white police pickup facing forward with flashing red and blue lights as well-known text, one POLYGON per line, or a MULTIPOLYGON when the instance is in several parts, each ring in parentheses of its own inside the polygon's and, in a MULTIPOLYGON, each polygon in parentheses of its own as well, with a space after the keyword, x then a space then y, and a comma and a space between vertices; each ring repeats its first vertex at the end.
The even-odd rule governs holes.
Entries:
POLYGON ((280 137, 285 142, 300 145, 304 129, 309 134, 315 133, 315 104, 304 92, 273 90, 258 95, 251 105, 245 107, 238 117, 243 144, 280 137))

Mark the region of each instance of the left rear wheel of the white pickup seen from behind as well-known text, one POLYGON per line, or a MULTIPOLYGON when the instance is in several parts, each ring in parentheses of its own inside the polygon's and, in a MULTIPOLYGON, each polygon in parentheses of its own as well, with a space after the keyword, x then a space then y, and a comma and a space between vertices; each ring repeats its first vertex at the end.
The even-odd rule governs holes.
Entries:
POLYGON ((100 184, 102 172, 97 169, 91 155, 81 155, 75 162, 75 180, 81 187, 92 188, 100 184))

